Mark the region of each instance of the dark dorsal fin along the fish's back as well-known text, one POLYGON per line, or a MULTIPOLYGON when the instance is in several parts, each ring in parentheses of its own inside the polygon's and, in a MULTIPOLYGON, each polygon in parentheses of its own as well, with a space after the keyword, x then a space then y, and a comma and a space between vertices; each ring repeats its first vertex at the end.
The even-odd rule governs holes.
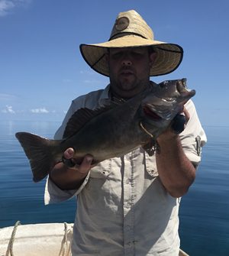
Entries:
POLYGON ((77 110, 71 118, 69 118, 69 122, 66 124, 65 131, 63 133, 63 138, 69 138, 76 134, 79 129, 81 129, 87 122, 89 122, 95 116, 100 115, 110 109, 116 107, 117 104, 105 105, 99 109, 79 109, 77 110))

